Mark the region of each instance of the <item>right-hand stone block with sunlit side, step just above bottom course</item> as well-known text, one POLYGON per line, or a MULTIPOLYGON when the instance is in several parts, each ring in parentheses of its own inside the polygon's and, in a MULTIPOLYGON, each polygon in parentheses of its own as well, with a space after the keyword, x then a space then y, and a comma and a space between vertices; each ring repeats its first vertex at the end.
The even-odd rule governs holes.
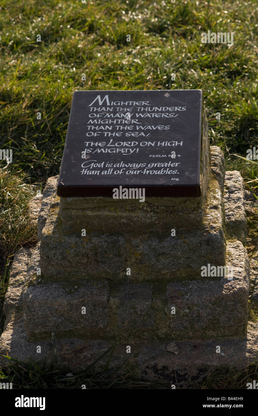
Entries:
POLYGON ((249 260, 241 242, 228 243, 226 260, 233 267, 233 279, 229 273, 217 280, 202 277, 167 285, 166 311, 175 339, 246 336, 249 260))

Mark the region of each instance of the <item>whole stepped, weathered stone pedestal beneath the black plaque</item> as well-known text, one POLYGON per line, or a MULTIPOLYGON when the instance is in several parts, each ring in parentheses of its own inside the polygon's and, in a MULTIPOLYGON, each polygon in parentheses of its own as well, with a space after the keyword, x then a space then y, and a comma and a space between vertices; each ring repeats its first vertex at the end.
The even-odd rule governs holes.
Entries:
POLYGON ((59 198, 50 178, 19 305, 10 301, 12 278, 7 291, 1 354, 50 360, 54 337, 59 364, 81 371, 118 342, 112 365, 128 358, 130 346, 126 366, 135 376, 173 381, 176 374, 183 387, 236 364, 236 345, 238 366, 245 365, 244 183, 237 171, 225 174, 206 120, 203 134, 199 198, 59 198), (229 272, 205 276, 204 266, 229 272), (217 345, 229 354, 216 354, 217 345))

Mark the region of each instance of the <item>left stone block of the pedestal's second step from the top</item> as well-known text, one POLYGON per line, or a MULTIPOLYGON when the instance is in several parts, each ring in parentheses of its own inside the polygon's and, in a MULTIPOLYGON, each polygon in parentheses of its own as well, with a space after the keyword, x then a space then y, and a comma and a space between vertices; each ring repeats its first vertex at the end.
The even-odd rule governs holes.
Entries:
POLYGON ((74 226, 67 227, 64 233, 55 209, 49 209, 40 245, 40 263, 46 279, 112 278, 125 271, 126 242, 122 234, 83 237, 83 227, 75 229, 74 226))

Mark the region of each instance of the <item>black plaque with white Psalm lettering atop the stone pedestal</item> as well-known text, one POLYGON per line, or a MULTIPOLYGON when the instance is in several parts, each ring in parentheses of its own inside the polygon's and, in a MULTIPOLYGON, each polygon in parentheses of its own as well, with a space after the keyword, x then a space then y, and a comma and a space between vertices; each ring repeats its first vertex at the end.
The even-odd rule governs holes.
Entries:
POLYGON ((57 195, 200 196, 202 91, 76 91, 57 195))

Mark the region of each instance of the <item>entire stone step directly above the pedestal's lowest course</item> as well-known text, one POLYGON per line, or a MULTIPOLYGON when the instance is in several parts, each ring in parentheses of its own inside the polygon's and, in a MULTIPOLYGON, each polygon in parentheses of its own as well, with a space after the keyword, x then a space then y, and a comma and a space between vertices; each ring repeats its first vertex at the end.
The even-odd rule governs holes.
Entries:
POLYGON ((39 265, 37 247, 23 290, 27 334, 31 340, 51 339, 52 332, 59 338, 112 340, 128 322, 120 334, 123 342, 244 338, 249 260, 241 242, 228 243, 226 263, 233 267, 233 277, 138 284, 107 279, 47 282, 33 274, 39 265))

